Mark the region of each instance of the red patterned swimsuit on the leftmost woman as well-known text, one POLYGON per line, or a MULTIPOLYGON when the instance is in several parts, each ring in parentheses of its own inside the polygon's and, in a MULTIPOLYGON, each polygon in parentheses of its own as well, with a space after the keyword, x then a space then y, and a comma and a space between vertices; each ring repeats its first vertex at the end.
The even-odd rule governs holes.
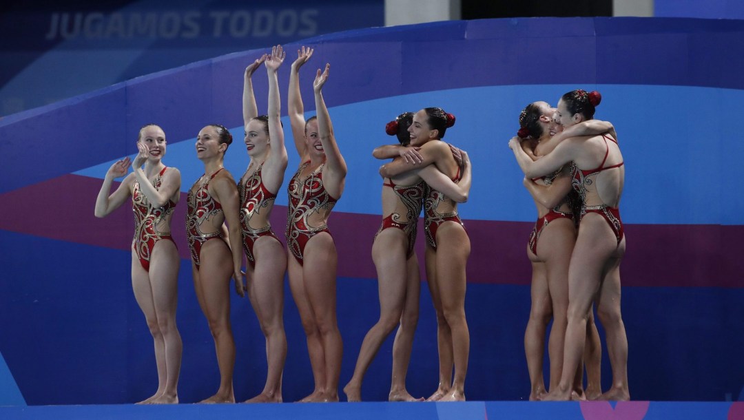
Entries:
MULTIPOLYGON (((160 188, 165 169, 168 168, 164 167, 153 179, 155 190, 160 188)), ((158 231, 158 224, 173 213, 174 207, 176 207, 176 203, 169 199, 163 207, 155 208, 147 200, 147 196, 140 191, 138 181, 135 181, 132 186, 132 211, 135 213, 135 237, 132 239, 132 247, 145 271, 150 271, 150 256, 153 255, 155 243, 161 239, 173 242, 170 232, 158 231)), ((176 242, 173 242, 173 245, 175 244, 176 242)))

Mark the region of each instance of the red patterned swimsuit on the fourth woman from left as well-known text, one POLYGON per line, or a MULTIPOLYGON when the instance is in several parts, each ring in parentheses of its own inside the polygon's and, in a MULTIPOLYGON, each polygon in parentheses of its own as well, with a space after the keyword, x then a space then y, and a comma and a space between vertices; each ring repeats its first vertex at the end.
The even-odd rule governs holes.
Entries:
POLYGON ((302 265, 302 259, 305 252, 305 245, 310 241, 312 236, 321 232, 327 232, 330 235, 327 224, 320 226, 310 226, 308 220, 312 213, 318 213, 319 210, 327 209, 330 211, 333 205, 338 201, 330 196, 323 186, 323 167, 321 164, 310 175, 300 182, 302 169, 305 169, 310 161, 305 162, 297 169, 297 173, 289 181, 287 192, 289 193, 289 207, 287 208, 286 218, 286 248, 292 252, 295 259, 302 265))

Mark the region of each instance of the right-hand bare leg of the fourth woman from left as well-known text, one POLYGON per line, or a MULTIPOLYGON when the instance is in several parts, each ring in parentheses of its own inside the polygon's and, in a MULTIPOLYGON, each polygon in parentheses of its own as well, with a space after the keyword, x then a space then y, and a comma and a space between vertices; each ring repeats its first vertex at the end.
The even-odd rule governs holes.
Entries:
POLYGON ((321 401, 339 401, 339 376, 344 345, 336 319, 336 245, 330 234, 313 236, 305 247, 303 278, 325 361, 326 387, 321 401))

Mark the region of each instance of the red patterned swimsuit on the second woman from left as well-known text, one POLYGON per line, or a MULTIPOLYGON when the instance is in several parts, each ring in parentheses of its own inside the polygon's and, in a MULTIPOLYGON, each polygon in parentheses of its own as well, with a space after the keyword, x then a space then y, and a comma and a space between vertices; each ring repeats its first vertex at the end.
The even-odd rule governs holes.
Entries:
POLYGON ((196 265, 196 270, 199 270, 199 265, 201 265, 199 256, 202 253, 202 245, 204 245, 204 242, 215 238, 222 239, 223 241, 225 240, 222 238, 222 230, 217 230, 217 232, 211 233, 202 233, 202 230, 199 228, 202 223, 207 222, 212 216, 222 213, 222 205, 217 201, 214 201, 214 198, 209 193, 209 181, 211 181, 212 178, 214 178, 214 175, 217 175, 222 169, 225 168, 217 169, 216 172, 214 172, 209 178, 205 178, 203 181, 202 178, 204 178, 204 175, 202 175, 201 178, 197 179, 196 182, 193 183, 190 190, 188 190, 186 200, 188 204, 186 237, 188 239, 188 248, 191 251, 191 259, 193 260, 194 265, 196 265), (201 184, 199 184, 199 182, 201 182, 201 184), (196 191, 192 192, 193 187, 195 187, 196 184, 199 184, 199 187, 196 188, 196 191))

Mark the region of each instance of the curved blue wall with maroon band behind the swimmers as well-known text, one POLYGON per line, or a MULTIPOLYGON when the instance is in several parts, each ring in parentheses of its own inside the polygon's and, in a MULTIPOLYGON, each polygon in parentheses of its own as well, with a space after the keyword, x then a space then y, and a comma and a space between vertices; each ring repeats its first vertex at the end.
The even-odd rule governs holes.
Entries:
MULTIPOLYGON (((330 221, 339 248, 342 384, 379 311, 369 255, 380 219, 381 162, 371 150, 391 141, 384 126, 395 115, 441 106, 458 117, 446 140, 468 150, 474 168, 471 199, 461 206, 473 250, 466 395, 526 397, 525 242, 535 214, 507 140, 527 103, 555 103, 565 91, 586 88, 602 92, 597 117, 615 124, 626 162, 623 315, 633 398, 743 398, 744 143, 737 122, 744 111, 744 57, 734 46, 744 45, 744 22, 496 19, 356 30, 304 45, 315 48, 301 75, 305 105, 312 114, 312 72, 330 62, 324 97, 350 168, 330 221)), ((298 47, 286 45, 290 61, 298 47)), ((112 404, 153 392, 151 339, 129 279, 131 215, 122 208, 94 219, 95 196, 111 162, 135 152, 136 133, 150 122, 167 133, 165 161, 181 169, 187 190, 202 173, 193 150, 202 126, 222 123, 242 138, 243 68, 262 53, 196 62, 0 120, 0 202, 6 209, 0 218, 0 354, 8 367, 0 372, 0 389, 7 384, 22 394, 0 404, 112 404)), ((285 104, 288 74, 285 63, 285 104)), ((259 109, 266 109, 264 77, 263 71, 254 75, 259 109)), ((286 135, 291 148, 289 130, 286 135)), ((289 154, 285 180, 298 164, 292 149, 289 154)), ((240 175, 247 161, 237 143, 225 165, 240 175)), ((272 220, 280 231, 283 194, 278 204, 272 220)), ((185 206, 175 217, 184 258, 179 394, 191 402, 211 395, 218 376, 179 231, 185 206)), ((428 395, 437 384, 434 315, 423 289, 408 373, 414 395, 428 395)), ((243 400, 263 387, 264 344, 247 300, 234 297, 232 307, 235 389, 243 400)), ((312 378, 289 291, 285 312, 284 398, 293 401, 310 392, 312 378)), ((387 398, 390 358, 388 342, 365 380, 365 400, 387 398)), ((604 366, 605 388, 610 378, 604 366)))

